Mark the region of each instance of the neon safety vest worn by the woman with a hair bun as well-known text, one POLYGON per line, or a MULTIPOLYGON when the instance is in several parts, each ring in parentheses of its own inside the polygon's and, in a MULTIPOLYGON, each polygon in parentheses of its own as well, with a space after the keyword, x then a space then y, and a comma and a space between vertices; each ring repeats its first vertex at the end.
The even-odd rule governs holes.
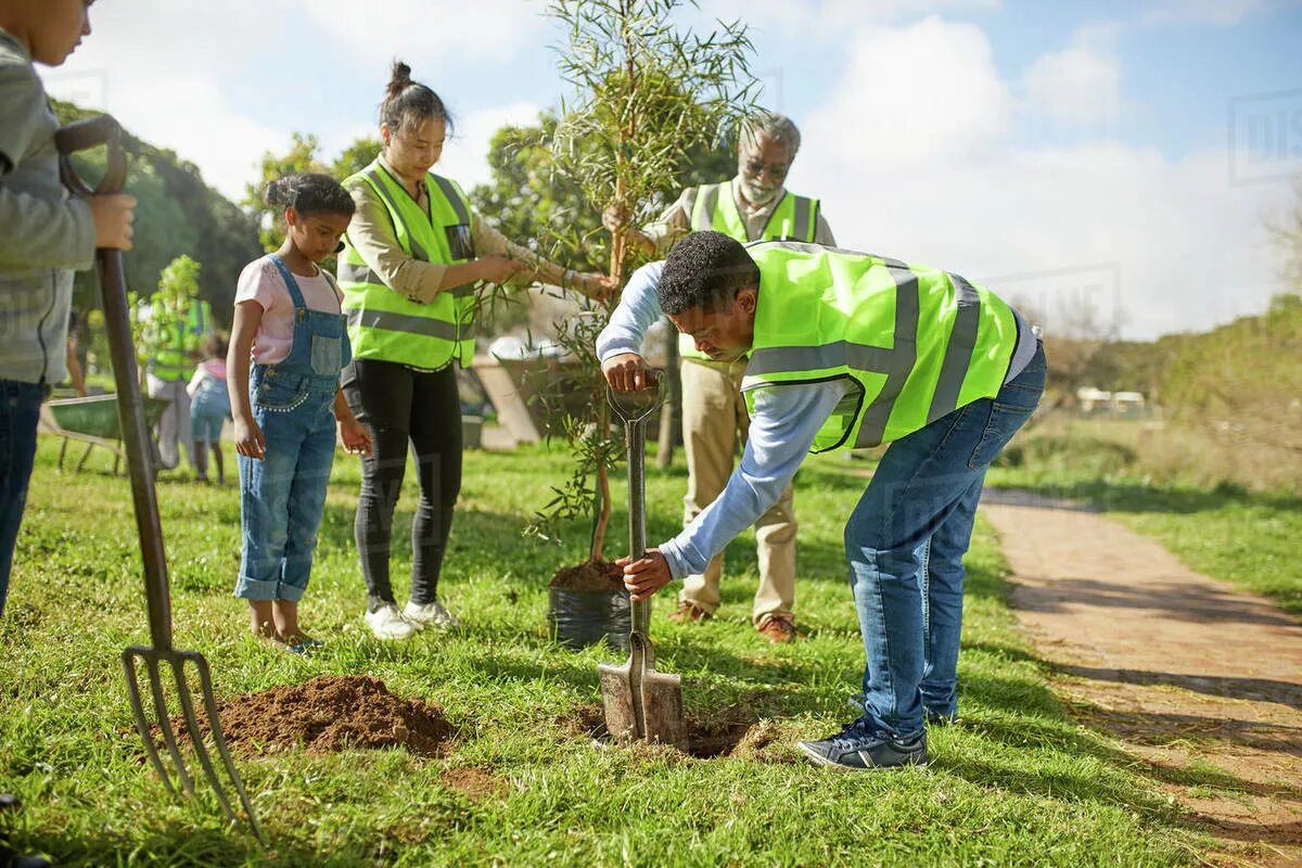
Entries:
MULTIPOLYGON (((370 186, 384 203, 398 245, 413 259, 454 265, 475 258, 470 200, 456 182, 426 176, 428 215, 379 160, 344 181, 345 187, 358 183, 370 186)), ((339 285, 354 358, 422 370, 452 360, 470 366, 475 354, 473 284, 444 289, 430 303, 411 301, 384 285, 345 234, 339 285)))

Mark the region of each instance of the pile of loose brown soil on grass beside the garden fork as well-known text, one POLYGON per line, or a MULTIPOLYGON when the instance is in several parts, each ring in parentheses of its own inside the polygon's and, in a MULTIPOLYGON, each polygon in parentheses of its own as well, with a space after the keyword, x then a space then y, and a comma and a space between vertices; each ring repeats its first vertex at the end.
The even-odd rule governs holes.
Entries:
MULTIPOLYGON (((368 675, 316 675, 302 685, 245 694, 217 703, 217 716, 227 744, 241 756, 298 746, 312 755, 346 747, 405 747, 417 756, 437 756, 453 735, 437 705, 397 696, 368 675)), ((172 726, 181 738, 182 718, 172 718, 172 726)), ((207 738, 202 712, 199 730, 207 738)))

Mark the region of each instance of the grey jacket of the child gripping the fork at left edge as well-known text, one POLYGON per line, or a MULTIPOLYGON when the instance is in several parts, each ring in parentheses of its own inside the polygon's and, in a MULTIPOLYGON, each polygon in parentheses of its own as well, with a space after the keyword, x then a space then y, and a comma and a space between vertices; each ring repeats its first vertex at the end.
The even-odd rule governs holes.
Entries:
POLYGON ((59 181, 57 129, 26 47, 0 30, 0 380, 68 376, 73 271, 95 259, 90 207, 59 181))

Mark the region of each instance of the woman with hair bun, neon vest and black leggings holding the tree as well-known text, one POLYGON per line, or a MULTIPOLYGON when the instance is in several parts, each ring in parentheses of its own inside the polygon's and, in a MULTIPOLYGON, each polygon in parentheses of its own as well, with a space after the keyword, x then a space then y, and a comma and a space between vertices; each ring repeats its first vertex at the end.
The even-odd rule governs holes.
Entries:
POLYGON ((370 431, 362 461, 357 548, 370 595, 366 623, 379 639, 404 639, 457 618, 437 599, 439 573, 461 492, 461 403, 453 362, 475 347, 475 285, 522 273, 586 295, 612 289, 539 259, 490 228, 461 187, 430 169, 452 117, 439 95, 398 61, 380 105, 384 147, 344 181, 357 203, 339 277, 353 340, 344 394, 370 431), (411 526, 411 597, 398 612, 389 583, 393 509, 408 446, 421 501, 411 526))

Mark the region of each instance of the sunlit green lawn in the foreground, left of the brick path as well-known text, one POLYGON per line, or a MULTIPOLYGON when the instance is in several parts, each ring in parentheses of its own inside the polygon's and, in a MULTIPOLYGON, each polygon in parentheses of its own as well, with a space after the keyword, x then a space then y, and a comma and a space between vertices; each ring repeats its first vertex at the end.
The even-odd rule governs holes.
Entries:
MULTIPOLYGON (((1164 772, 1065 716, 1016 630, 984 526, 969 557, 962 722, 931 731, 932 765, 854 776, 802 761, 794 740, 849 720, 862 671, 841 526, 863 481, 827 462, 798 481, 806 639, 775 647, 750 629, 750 537, 730 549, 719 618, 674 626, 669 599, 656 601, 658 665, 682 674, 689 714, 777 738, 710 760, 594 743, 568 721, 600 701, 595 666, 620 655, 562 651, 548 636, 547 580, 579 560, 585 531, 562 548, 521 537, 565 472, 562 455, 529 449, 467 454, 440 588, 467 627, 401 644, 375 642, 362 623, 358 467, 341 455, 302 606, 326 647, 306 658, 246 636, 245 604, 230 596, 236 488, 160 483, 177 647, 207 656, 221 696, 370 674, 441 705, 457 729, 432 760, 391 750, 240 761, 271 838, 263 850, 225 829, 211 799, 169 800, 143 764, 118 665, 125 645, 148 642, 128 484, 103 465, 60 475, 55 454, 44 439, 0 621, 0 780, 26 804, 0 815, 0 832, 60 864, 1168 865, 1193 864, 1207 845, 1163 795, 1164 772), (466 768, 491 774, 501 795, 445 783, 466 768)), ((678 527, 685 472, 648 475, 648 539, 659 541, 678 527)), ((398 539, 413 492, 409 479, 398 539)), ((622 522, 617 513, 616 553, 622 522)), ((398 545, 396 576, 408 558, 398 545)))

